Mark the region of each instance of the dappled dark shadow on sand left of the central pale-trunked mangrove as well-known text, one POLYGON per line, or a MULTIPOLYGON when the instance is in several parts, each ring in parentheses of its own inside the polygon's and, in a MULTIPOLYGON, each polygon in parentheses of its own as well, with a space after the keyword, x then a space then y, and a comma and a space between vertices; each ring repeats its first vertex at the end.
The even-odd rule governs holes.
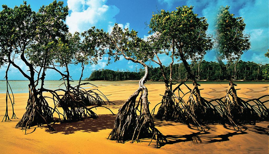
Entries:
MULTIPOLYGON (((114 125, 116 116, 112 114, 101 114, 98 115, 97 119, 86 118, 82 121, 77 122, 61 122, 51 124, 51 126, 55 129, 55 131, 50 131, 46 129, 45 131, 55 134, 55 133, 62 133, 62 134, 73 134, 76 131, 82 132, 98 132, 103 129, 112 129, 114 125)), ((47 128, 47 127, 43 127, 47 128)))

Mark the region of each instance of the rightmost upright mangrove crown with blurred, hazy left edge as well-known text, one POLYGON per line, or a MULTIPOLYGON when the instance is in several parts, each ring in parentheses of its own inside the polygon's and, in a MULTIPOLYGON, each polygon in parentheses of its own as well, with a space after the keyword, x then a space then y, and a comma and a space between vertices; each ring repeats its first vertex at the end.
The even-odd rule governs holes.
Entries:
POLYGON ((242 17, 234 17, 229 12, 229 6, 220 7, 216 18, 216 43, 222 59, 238 60, 250 49, 250 35, 244 33, 245 26, 242 17))

